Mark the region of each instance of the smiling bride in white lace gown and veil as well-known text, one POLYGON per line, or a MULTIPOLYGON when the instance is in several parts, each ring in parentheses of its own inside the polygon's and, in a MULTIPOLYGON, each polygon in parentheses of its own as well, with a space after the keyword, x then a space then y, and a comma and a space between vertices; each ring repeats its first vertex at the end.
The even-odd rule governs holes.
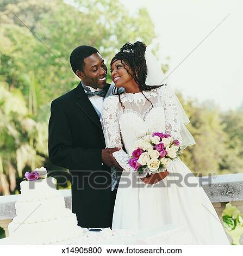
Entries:
POLYGON ((195 143, 184 125, 189 120, 170 84, 161 84, 163 72, 146 45, 123 45, 111 60, 111 76, 116 95, 104 100, 101 121, 107 148, 122 147, 113 155, 123 168, 112 227, 151 230, 184 224, 197 245, 229 245, 207 194, 180 159, 171 161, 166 173, 150 177, 129 166, 135 139, 146 133, 169 133, 183 148, 195 143))

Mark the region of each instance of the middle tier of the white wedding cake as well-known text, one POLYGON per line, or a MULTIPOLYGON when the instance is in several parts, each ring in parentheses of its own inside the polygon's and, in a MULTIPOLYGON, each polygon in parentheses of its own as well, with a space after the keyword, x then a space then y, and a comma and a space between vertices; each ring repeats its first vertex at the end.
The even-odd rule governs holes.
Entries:
POLYGON ((16 202, 16 217, 13 222, 35 223, 55 220, 67 216, 71 211, 65 208, 63 197, 53 197, 32 202, 16 202))

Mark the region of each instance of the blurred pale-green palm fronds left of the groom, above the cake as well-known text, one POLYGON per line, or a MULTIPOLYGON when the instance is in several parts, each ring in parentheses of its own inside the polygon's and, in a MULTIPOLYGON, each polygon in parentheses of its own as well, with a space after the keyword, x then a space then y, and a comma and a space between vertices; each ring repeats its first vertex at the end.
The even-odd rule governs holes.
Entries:
POLYGON ((41 127, 41 124, 29 117, 20 89, 9 90, 8 84, 1 82, 0 193, 15 192, 16 179, 22 178, 24 168, 35 169, 45 161, 39 154, 43 153, 39 142, 41 127))

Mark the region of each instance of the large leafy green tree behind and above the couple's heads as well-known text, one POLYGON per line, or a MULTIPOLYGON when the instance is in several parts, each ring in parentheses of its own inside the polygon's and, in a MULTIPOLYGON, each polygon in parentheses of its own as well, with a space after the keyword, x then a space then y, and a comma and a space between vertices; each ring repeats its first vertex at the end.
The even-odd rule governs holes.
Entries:
POLYGON ((44 95, 37 97, 38 107, 77 84, 78 78, 72 73, 68 59, 78 45, 97 47, 108 61, 124 42, 143 40, 150 44, 155 38, 153 23, 145 9, 130 16, 120 2, 111 0, 83 0, 73 5, 61 0, 10 4, 5 1, 1 8, 1 34, 11 47, 1 54, 0 61, 5 65, 0 68, 0 75, 27 95, 29 87, 22 75, 32 71, 44 95))

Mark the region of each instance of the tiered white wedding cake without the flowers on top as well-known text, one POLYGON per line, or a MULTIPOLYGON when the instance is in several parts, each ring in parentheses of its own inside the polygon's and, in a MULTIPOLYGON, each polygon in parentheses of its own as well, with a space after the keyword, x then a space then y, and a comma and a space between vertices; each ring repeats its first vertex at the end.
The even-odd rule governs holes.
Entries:
POLYGON ((65 207, 64 197, 52 177, 22 181, 16 217, 9 224, 9 240, 14 244, 68 244, 83 234, 76 214, 65 207))

